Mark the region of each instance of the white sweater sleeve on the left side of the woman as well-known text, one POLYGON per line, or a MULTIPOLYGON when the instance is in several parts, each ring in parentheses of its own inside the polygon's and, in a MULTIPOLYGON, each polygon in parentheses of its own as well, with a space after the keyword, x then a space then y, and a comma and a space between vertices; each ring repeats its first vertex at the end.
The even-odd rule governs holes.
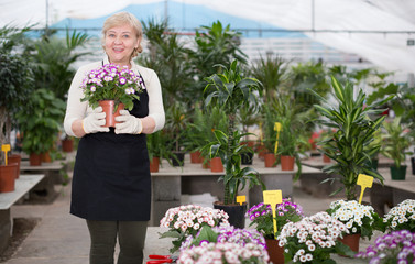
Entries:
POLYGON ((81 102, 80 99, 84 98, 83 89, 80 85, 85 78, 85 67, 80 67, 77 73, 75 74, 74 79, 72 80, 69 91, 68 91, 68 99, 66 105, 66 113, 64 120, 64 128, 65 132, 68 135, 76 136, 74 131, 72 130, 72 124, 77 119, 84 119, 88 102, 81 102))

